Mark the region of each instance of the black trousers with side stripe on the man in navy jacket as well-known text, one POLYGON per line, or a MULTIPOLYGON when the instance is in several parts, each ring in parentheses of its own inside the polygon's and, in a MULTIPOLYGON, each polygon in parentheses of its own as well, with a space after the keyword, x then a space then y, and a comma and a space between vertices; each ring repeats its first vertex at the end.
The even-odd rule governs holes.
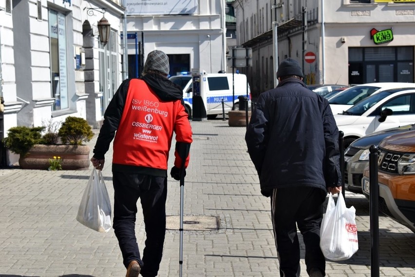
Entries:
POLYGON ((281 277, 300 276, 300 243, 297 226, 305 245, 307 273, 310 273, 312 268, 319 268, 323 276, 325 275, 325 258, 320 249, 322 203, 325 196, 326 193, 320 188, 297 187, 273 190, 271 218, 281 277))

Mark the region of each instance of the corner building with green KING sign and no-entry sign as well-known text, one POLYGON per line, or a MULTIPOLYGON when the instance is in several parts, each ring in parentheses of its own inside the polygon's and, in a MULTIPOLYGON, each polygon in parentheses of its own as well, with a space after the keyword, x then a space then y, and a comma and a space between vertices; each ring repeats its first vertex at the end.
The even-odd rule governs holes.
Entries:
POLYGON ((274 64, 288 57, 303 65, 307 84, 414 82, 415 0, 236 0, 233 6, 237 44, 253 50, 252 67, 242 70, 257 95, 276 85, 274 64))

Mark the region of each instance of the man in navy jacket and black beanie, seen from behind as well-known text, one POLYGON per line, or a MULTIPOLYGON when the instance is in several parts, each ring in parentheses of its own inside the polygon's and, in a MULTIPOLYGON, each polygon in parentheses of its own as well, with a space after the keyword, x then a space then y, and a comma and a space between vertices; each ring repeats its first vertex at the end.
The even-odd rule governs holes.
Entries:
POLYGON ((300 276, 298 226, 307 273, 322 277, 322 204, 327 191, 341 190, 339 130, 328 101, 302 82, 298 61, 283 60, 277 78, 278 86, 262 93, 257 101, 246 130, 246 145, 261 193, 271 198, 280 275, 300 276))

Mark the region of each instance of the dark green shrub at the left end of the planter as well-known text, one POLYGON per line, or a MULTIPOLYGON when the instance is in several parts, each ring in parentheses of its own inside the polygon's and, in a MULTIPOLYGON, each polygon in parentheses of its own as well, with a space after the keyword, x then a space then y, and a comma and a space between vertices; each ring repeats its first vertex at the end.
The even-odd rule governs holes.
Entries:
POLYGON ((12 127, 4 139, 4 144, 10 151, 24 157, 33 145, 41 142, 43 130, 44 127, 12 127))

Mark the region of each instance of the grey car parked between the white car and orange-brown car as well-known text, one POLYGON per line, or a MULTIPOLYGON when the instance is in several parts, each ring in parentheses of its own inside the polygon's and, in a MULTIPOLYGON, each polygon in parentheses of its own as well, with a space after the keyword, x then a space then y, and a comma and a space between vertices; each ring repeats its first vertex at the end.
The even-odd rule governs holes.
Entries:
POLYGON ((369 166, 369 147, 389 136, 415 130, 415 124, 382 130, 353 141, 344 151, 344 185, 351 192, 362 193, 363 172, 369 166))

